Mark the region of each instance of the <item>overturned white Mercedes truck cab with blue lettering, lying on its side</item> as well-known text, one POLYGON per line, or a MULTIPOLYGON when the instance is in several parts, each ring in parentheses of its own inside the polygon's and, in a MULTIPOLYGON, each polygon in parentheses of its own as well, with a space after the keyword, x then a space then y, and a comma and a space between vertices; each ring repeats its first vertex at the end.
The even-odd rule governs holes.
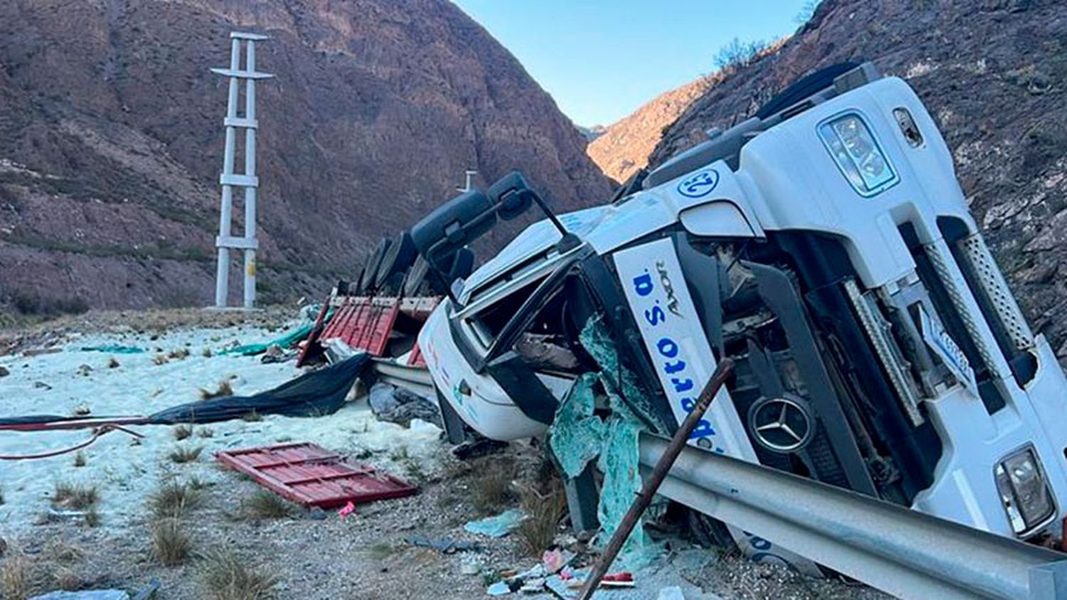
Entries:
MULTIPOLYGON (((419 344, 455 429, 542 435, 599 319, 653 429, 736 361, 691 443, 1004 536, 1060 537, 1067 380, 980 234, 911 88, 830 67, 637 178, 537 223, 419 344)), ((520 176, 412 230, 434 260, 531 201, 520 176)), ((542 204, 543 205, 543 204, 542 204)), ((631 399, 633 400, 633 399, 631 399)))

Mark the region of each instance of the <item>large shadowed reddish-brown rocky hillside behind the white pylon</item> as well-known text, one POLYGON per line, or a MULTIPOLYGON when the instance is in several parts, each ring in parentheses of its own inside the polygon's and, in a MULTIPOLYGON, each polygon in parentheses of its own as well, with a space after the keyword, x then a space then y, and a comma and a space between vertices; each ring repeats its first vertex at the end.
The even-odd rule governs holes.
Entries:
POLYGON ((259 67, 277 78, 258 90, 268 298, 351 275, 468 167, 522 167, 560 208, 609 193, 552 98, 444 0, 0 2, 0 302, 209 301, 226 87, 207 69, 233 30, 273 37, 259 67))

